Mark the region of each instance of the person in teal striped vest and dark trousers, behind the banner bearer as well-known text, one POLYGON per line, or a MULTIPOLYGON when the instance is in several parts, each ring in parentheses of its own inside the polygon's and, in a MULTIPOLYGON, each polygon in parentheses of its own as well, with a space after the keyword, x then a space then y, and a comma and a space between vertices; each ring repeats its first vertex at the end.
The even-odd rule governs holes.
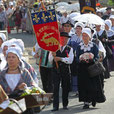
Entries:
POLYGON ((36 63, 39 64, 43 90, 47 93, 53 93, 53 81, 51 74, 52 64, 48 60, 49 51, 42 49, 38 43, 36 43, 33 47, 32 55, 36 58, 36 63))

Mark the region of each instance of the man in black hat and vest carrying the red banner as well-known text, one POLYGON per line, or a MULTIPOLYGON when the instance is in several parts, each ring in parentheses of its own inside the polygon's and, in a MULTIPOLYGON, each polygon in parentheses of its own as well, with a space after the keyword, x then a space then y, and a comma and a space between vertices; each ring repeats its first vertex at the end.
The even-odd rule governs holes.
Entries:
POLYGON ((50 52, 49 61, 53 62, 53 109, 59 110, 59 89, 62 86, 63 109, 68 106, 68 94, 70 91, 70 69, 69 65, 73 62, 73 49, 67 45, 70 36, 66 32, 60 33, 60 49, 57 52, 50 52))

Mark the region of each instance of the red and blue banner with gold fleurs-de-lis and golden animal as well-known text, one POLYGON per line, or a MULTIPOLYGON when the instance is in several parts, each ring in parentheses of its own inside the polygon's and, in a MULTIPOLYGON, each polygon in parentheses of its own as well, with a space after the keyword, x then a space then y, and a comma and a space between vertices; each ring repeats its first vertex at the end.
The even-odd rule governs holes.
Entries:
POLYGON ((56 52, 59 48, 59 29, 55 9, 31 13, 31 17, 39 46, 56 52))

